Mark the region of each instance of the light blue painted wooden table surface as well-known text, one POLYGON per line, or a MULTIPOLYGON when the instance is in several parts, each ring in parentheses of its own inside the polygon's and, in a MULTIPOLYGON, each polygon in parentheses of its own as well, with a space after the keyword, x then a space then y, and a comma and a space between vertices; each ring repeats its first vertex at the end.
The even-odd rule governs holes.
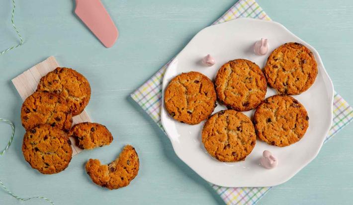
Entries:
MULTIPOLYGON (((72 0, 16 0, 16 25, 25 43, 0 56, 0 117, 17 127, 14 143, 0 157, 0 179, 14 193, 44 195, 56 205, 222 204, 208 184, 181 162, 169 139, 129 94, 174 57, 203 27, 235 0, 102 0, 120 30, 115 46, 104 48, 73 15, 72 0), (75 156, 56 175, 41 175, 21 152, 24 129, 21 99, 10 79, 48 56, 82 72, 92 97, 87 111, 114 136, 110 146, 75 156), (140 172, 130 186, 107 191, 92 184, 84 165, 89 158, 108 163, 123 145, 133 144, 140 172)), ((353 104, 353 1, 258 0, 267 14, 313 45, 321 54, 335 90, 353 104)), ((0 50, 17 43, 10 24, 10 0, 0 1, 0 50)), ((0 124, 0 148, 10 135, 0 124)), ((318 157, 287 183, 277 186, 259 205, 353 203, 353 126, 326 143, 318 157)), ((17 202, 0 189, 0 205, 17 202)), ((33 200, 29 205, 44 205, 33 200)))

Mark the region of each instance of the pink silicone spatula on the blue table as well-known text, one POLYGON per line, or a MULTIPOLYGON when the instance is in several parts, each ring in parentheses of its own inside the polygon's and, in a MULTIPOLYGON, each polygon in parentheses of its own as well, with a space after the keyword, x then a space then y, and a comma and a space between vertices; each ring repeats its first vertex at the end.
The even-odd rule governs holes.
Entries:
POLYGON ((76 0, 75 13, 105 47, 114 45, 119 32, 100 0, 76 0))

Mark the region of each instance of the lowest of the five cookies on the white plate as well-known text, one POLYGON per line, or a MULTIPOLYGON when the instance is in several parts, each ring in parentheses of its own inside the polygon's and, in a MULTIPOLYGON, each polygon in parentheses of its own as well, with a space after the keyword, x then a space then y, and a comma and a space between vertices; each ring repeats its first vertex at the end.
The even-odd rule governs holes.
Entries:
POLYGON ((212 115, 202 129, 202 143, 207 152, 222 162, 244 160, 256 144, 250 118, 235 110, 212 115))

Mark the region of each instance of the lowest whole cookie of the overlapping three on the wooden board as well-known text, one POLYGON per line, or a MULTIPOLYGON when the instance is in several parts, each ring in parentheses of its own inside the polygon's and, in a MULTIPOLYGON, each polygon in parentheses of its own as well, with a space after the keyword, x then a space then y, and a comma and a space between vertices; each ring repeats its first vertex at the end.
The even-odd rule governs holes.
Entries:
POLYGON ((38 125, 23 137, 24 159, 42 174, 55 174, 69 166, 71 141, 66 133, 47 124, 38 125))

